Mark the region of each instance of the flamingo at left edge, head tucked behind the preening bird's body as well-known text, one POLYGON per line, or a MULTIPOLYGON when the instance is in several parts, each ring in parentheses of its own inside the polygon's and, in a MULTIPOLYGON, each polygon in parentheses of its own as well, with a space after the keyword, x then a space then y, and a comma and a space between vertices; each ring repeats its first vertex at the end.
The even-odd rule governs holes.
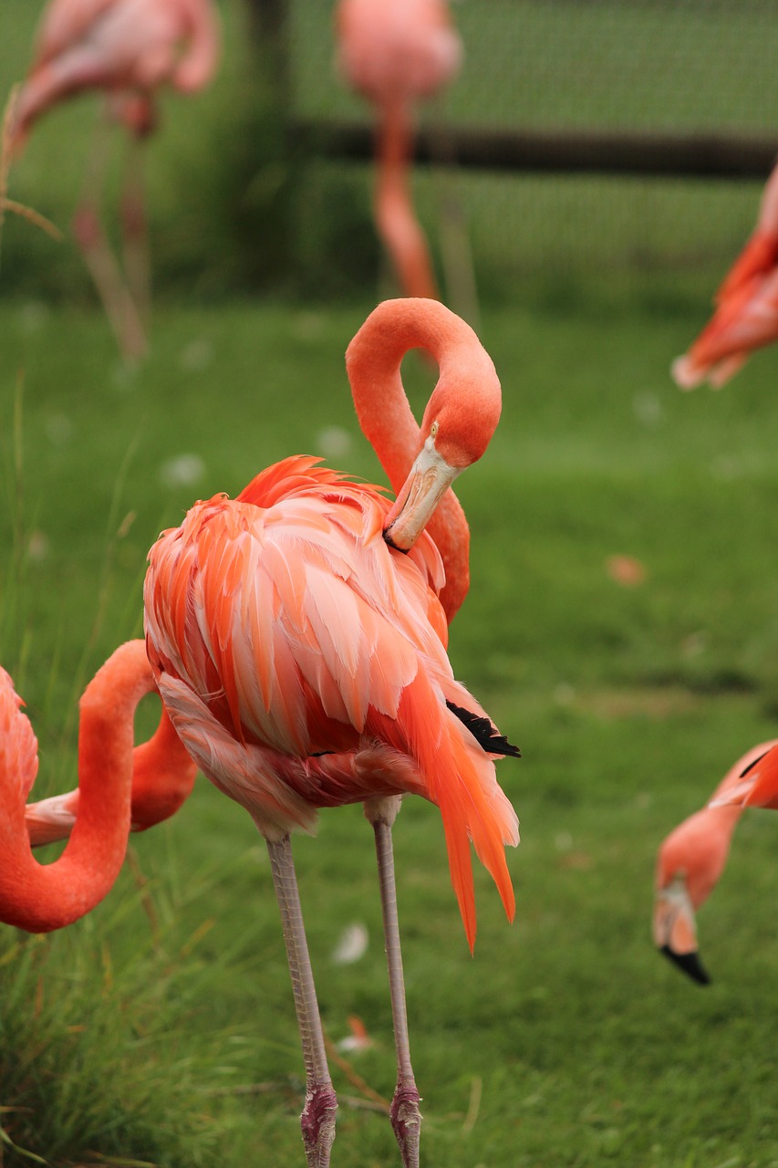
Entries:
MULTIPOLYGON (((78 804, 65 848, 54 863, 30 851, 26 800, 37 772, 37 742, 21 710, 11 675, 0 669, 0 920, 32 933, 63 929, 90 912, 111 890, 121 868, 131 826, 131 791, 138 755, 133 716, 154 690, 140 639, 119 646, 86 686, 79 702, 78 804)), ((139 771, 162 758, 180 767, 182 783, 195 767, 169 728, 146 744, 139 771)))

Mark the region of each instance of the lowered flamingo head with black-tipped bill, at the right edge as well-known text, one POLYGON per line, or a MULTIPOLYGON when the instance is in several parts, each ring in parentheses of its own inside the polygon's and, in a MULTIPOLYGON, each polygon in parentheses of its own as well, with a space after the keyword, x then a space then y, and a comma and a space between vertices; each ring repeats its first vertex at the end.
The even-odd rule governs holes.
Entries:
POLYGON ((743 776, 752 778, 757 771, 750 769, 776 745, 777 739, 760 743, 738 758, 706 806, 679 823, 657 855, 654 943, 701 986, 708 985, 710 976, 700 960, 695 913, 721 878, 732 833, 745 809, 745 804, 730 800, 748 781, 743 776))

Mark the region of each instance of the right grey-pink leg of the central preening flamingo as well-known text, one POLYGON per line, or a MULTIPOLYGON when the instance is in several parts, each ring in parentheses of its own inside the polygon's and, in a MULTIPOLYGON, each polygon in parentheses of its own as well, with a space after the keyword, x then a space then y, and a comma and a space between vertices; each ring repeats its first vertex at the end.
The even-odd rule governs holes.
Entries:
POLYGON ((408 1040, 405 1009, 405 980, 400 948, 400 920, 395 887, 395 856, 391 847, 391 825, 400 811, 400 798, 375 799, 366 804, 364 813, 375 832, 375 851, 378 862, 378 885, 383 913, 383 936, 389 969, 389 994, 397 1052, 397 1086, 391 1100, 391 1127, 400 1146, 403 1168, 418 1168, 422 1113, 419 1093, 414 1078, 408 1040))

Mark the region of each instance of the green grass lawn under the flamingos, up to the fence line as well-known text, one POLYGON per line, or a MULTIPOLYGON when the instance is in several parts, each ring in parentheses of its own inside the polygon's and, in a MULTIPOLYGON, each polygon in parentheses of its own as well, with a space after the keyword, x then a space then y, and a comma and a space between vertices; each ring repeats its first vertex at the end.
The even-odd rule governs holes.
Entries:
MULTIPOLYGON (((522 843, 513 926, 478 874, 471 959, 437 812, 410 801, 397 822, 430 1168, 778 1163, 774 819, 744 818, 701 915, 708 989, 650 937, 659 842, 778 722, 778 353, 720 394, 674 389, 669 360, 708 293, 592 280, 567 304, 529 287, 484 314, 503 416, 460 480, 473 584, 451 656, 523 750, 499 767, 522 843), (616 554, 641 561, 641 584, 610 577, 616 554)), ((36 791, 75 783, 76 695, 140 632, 162 527, 293 452, 334 446, 334 465, 381 474, 343 370, 370 306, 162 306, 152 357, 130 374, 96 313, 0 304, 0 660, 41 743, 36 791)), ((407 380, 421 403, 429 375, 414 359, 407 380)), ((375 1040, 333 1068, 335 1084, 361 1097, 359 1076, 388 1098, 361 809, 325 813, 296 853, 327 1033, 340 1040, 355 1014, 375 1040), (353 922, 368 951, 336 965, 353 922)), ((204 780, 133 839, 132 864, 83 922, 46 939, 4 929, 0 979, 0 1104, 13 1108, 0 1125, 20 1146, 56 1166, 301 1163, 301 1061, 264 847, 204 780)), ((385 1118, 345 1103, 333 1163, 396 1161, 385 1118)))

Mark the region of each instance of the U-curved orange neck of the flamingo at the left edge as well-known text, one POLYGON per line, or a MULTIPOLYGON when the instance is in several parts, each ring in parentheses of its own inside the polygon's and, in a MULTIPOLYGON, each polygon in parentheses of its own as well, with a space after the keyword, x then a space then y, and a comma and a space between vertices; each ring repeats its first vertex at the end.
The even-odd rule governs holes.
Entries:
POLYGON ((61 929, 113 885, 130 833, 133 716, 153 689, 141 640, 120 646, 86 687, 79 703, 78 814, 55 863, 41 865, 33 857, 23 798, 12 800, 11 777, 0 776, 0 800, 13 802, 1 816, 0 919, 7 924, 28 932, 61 929))

